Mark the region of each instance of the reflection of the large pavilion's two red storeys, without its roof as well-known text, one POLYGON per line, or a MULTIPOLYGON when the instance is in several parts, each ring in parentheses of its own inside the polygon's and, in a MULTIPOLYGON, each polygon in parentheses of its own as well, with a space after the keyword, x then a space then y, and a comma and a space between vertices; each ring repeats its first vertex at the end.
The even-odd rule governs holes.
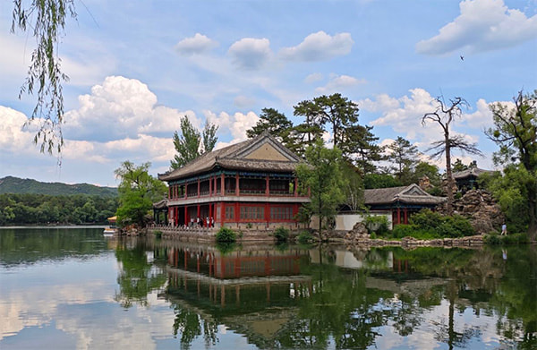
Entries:
POLYGON ((252 301, 266 307, 282 297, 309 294, 311 288, 311 277, 300 275, 308 252, 299 249, 280 252, 267 246, 222 253, 215 247, 182 245, 166 254, 168 291, 196 303, 232 303, 243 309, 241 304, 252 301))

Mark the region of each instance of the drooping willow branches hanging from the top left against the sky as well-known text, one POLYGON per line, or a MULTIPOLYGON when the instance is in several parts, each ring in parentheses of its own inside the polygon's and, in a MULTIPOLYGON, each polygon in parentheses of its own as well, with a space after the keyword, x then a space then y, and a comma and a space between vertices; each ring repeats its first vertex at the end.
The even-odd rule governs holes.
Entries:
POLYGON ((41 142, 41 152, 47 149, 58 153, 64 145, 61 125, 64 122, 64 96, 62 83, 69 77, 62 73, 58 54, 58 43, 65 28, 65 18, 76 17, 73 0, 47 0, 22 2, 13 1, 11 30, 31 29, 36 39, 36 48, 31 55, 26 81, 21 86, 19 98, 28 92, 37 94, 36 107, 30 121, 41 119, 34 142, 41 142))

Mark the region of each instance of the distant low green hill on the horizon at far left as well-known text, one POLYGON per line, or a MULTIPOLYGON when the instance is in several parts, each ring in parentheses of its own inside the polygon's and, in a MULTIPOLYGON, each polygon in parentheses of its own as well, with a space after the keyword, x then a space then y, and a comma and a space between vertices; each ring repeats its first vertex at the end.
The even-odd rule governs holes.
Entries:
POLYGON ((34 193, 54 196, 88 194, 101 197, 115 197, 117 196, 117 188, 99 187, 93 184, 41 183, 32 179, 6 176, 0 179, 0 194, 3 193, 34 193))

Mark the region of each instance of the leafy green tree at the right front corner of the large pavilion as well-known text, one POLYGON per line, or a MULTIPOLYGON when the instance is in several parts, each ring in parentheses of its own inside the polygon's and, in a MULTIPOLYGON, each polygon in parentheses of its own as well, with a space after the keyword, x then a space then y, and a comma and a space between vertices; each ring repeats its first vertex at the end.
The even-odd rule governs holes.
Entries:
POLYGON ((333 218, 337 207, 345 201, 343 189, 346 180, 341 174, 341 151, 327 149, 322 140, 318 140, 306 149, 306 161, 308 164, 297 166, 296 174, 299 182, 311 191, 311 202, 307 208, 311 215, 319 218, 321 234, 322 222, 333 218))

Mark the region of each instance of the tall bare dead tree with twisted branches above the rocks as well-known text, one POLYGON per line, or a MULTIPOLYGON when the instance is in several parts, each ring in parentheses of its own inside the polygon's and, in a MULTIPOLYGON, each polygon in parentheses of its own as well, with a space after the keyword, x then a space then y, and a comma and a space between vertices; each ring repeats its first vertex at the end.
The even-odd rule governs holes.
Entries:
POLYGON ((468 102, 465 98, 449 99, 449 104, 444 101, 444 97, 435 98, 437 107, 434 112, 426 113, 422 116, 422 125, 431 121, 440 125, 444 132, 444 139, 432 143, 432 147, 428 151, 433 151, 431 157, 440 158, 446 153, 446 178, 447 178, 447 214, 453 214, 453 187, 455 180, 451 171, 451 150, 461 149, 463 153, 467 152, 482 156, 481 150, 477 149, 475 143, 469 143, 460 135, 451 136, 449 126, 454 122, 455 118, 460 118, 463 115, 462 108, 468 108, 468 102))

